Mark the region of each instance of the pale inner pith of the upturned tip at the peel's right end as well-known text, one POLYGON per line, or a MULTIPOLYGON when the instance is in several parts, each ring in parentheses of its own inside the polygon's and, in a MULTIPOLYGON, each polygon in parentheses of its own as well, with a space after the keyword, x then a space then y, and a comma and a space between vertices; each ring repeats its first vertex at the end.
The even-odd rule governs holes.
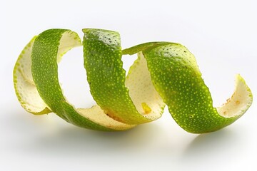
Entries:
POLYGON ((236 75, 236 88, 233 95, 226 103, 216 109, 218 114, 225 118, 235 117, 243 115, 250 107, 252 101, 253 96, 250 88, 248 88, 246 82, 240 75, 236 75))

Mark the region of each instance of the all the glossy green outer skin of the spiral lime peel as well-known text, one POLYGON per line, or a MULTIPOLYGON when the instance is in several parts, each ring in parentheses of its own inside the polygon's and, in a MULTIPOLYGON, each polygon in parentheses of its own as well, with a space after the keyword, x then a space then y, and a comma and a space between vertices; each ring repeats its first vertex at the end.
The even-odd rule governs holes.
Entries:
MULTIPOLYGON (((69 32, 64 29, 50 29, 41 33, 34 41, 31 73, 39 95, 51 109, 43 110, 39 114, 53 111, 79 127, 111 131, 111 128, 80 115, 62 94, 58 80, 57 54, 61 37, 67 31, 69 32)), ((209 133, 224 128, 240 118, 248 109, 245 108, 241 115, 231 118, 219 115, 216 108, 213 108, 211 94, 201 78, 193 54, 178 43, 150 42, 121 51, 119 33, 101 29, 83 31, 84 66, 91 94, 106 115, 115 120, 131 125, 152 121, 138 113, 125 86, 126 72, 122 68, 121 56, 140 51, 146 58, 153 86, 168 105, 176 123, 189 133, 209 133)), ((76 34, 74 38, 76 40, 79 36, 76 34)), ((16 63, 16 67, 17 65, 19 63, 16 63)), ((251 99, 247 107, 252 101, 251 90, 248 92, 251 99)), ((17 96, 21 100, 19 93, 17 96)))

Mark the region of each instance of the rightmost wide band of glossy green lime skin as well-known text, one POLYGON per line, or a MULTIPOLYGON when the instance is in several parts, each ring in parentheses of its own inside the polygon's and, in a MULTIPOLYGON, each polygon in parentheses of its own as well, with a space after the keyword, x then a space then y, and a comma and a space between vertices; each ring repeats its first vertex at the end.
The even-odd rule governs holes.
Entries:
POLYGON ((168 105, 176 123, 189 133, 208 133, 230 125, 241 117, 224 118, 213 108, 193 54, 178 43, 144 43, 125 49, 124 54, 142 51, 153 86, 168 105), (161 69, 160 69, 161 68, 161 69))

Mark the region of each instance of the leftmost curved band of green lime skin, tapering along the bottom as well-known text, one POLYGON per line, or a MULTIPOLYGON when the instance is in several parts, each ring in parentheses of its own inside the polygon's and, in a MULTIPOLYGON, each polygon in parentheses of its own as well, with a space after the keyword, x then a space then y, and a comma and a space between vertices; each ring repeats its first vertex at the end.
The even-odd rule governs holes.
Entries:
POLYGON ((79 115, 66 102, 58 80, 57 52, 63 33, 69 30, 51 29, 41 33, 34 42, 31 71, 39 95, 46 105, 69 123, 92 130, 111 130, 79 115))

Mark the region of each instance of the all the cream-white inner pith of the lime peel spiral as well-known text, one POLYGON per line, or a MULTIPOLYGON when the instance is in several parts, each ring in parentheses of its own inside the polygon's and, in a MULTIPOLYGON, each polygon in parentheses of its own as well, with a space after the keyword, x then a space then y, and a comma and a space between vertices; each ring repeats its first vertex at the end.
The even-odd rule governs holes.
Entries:
MULTIPOLYGON (((44 114, 49 113, 50 108, 41 99, 31 74, 31 51, 35 38, 21 52, 16 66, 14 68, 14 86, 16 94, 21 105, 30 113, 44 114), (46 109, 49 110, 46 110, 46 109)), ((61 61, 61 57, 71 48, 81 46, 81 41, 76 33, 66 31, 60 40, 57 61, 61 61)), ((194 63, 194 59, 188 60, 194 63)), ((197 66, 197 65, 196 65, 197 66)), ((197 71, 198 68, 196 67, 197 71)), ((146 58, 143 53, 138 53, 138 60, 131 66, 129 74, 125 81, 126 87, 129 88, 129 95, 138 113, 150 120, 156 120, 161 117, 165 103, 158 95, 151 76, 147 68, 146 58)), ((248 110, 252 103, 253 97, 251 90, 246 85, 241 76, 236 76, 236 90, 232 97, 227 100, 221 107, 216 108, 218 114, 224 118, 238 117, 248 110)), ((67 102, 68 100, 66 100, 67 102)), ((84 116, 94 123, 102 125, 106 128, 114 130, 127 130, 135 125, 127 125, 109 118, 99 105, 92 108, 74 108, 79 115, 84 116)))

